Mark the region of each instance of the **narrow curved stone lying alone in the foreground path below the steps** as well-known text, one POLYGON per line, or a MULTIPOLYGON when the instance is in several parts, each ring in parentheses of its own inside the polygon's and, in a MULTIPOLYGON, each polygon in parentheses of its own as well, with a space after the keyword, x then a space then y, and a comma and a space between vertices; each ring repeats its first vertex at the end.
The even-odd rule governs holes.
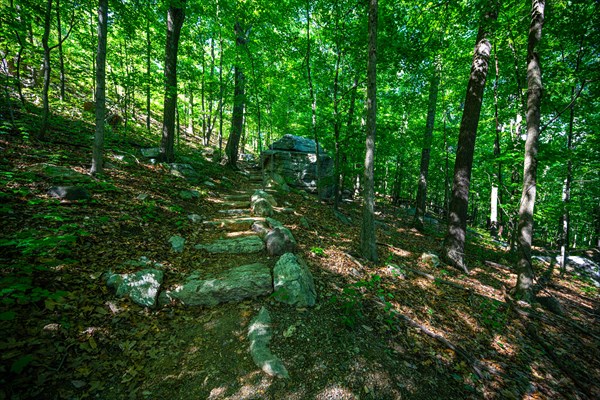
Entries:
POLYGON ((271 353, 269 343, 272 337, 271 316, 266 308, 261 308, 258 315, 248 327, 250 354, 254 363, 270 376, 289 378, 287 369, 279 359, 271 353))

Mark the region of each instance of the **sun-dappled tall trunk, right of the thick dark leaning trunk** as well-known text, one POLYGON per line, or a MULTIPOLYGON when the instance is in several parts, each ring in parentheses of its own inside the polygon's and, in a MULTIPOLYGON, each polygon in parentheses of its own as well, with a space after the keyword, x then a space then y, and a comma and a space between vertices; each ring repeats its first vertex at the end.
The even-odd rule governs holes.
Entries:
POLYGON ((542 36, 544 7, 545 0, 532 0, 531 26, 527 43, 527 140, 523 164, 523 191, 519 207, 518 276, 515 288, 515 297, 525 301, 530 301, 533 296, 534 272, 531 265, 531 242, 533 238, 533 208, 537 189, 537 152, 542 98, 542 72, 537 46, 542 36))

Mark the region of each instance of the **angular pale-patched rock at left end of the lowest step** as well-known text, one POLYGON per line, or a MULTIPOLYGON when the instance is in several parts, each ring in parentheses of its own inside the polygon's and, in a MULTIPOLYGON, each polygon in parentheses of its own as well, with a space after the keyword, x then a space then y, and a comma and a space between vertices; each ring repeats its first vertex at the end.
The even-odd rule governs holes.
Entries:
POLYGON ((154 307, 162 280, 162 271, 144 269, 132 274, 109 273, 106 285, 115 290, 117 296, 127 296, 136 304, 154 307))

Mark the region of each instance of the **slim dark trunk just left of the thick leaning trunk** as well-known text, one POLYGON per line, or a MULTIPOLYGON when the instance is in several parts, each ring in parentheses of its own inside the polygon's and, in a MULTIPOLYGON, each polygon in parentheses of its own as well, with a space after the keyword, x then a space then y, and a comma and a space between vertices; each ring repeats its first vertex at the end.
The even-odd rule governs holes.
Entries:
POLYGON ((437 95, 440 86, 440 72, 437 61, 429 84, 429 106, 427 107, 427 123, 423 135, 423 150, 421 151, 421 170, 417 186, 417 204, 413 224, 419 231, 425 228, 423 221, 427 204, 427 178, 429 175, 429 160, 431 158, 431 142, 433 141, 433 128, 435 125, 435 110, 437 95))

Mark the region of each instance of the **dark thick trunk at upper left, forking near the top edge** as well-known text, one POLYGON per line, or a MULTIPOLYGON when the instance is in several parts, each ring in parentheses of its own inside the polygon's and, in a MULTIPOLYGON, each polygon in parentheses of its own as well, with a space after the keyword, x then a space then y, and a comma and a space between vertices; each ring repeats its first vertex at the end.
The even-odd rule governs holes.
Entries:
POLYGON ((161 158, 173 162, 175 158, 175 109, 177 108, 177 50, 181 26, 185 19, 185 0, 171 0, 167 12, 167 43, 165 46, 165 106, 163 112, 161 158))

